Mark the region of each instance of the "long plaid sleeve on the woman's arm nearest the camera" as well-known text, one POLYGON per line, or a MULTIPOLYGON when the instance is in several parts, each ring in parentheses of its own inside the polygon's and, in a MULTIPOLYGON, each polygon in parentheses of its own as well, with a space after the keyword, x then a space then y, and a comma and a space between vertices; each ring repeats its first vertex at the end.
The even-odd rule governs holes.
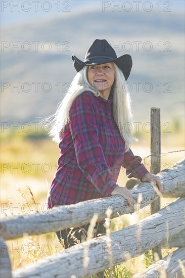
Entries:
POLYGON ((91 94, 84 92, 73 101, 69 128, 79 168, 101 194, 110 196, 118 185, 112 179, 112 172, 99 143, 97 113, 91 94))

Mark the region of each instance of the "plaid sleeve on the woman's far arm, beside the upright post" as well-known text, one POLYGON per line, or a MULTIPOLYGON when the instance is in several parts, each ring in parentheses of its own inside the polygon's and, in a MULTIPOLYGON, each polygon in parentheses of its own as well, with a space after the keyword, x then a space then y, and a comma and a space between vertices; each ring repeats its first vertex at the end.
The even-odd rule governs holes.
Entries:
POLYGON ((126 169, 127 177, 141 179, 143 175, 149 173, 141 161, 142 158, 140 156, 134 156, 130 149, 125 153, 122 167, 126 169))

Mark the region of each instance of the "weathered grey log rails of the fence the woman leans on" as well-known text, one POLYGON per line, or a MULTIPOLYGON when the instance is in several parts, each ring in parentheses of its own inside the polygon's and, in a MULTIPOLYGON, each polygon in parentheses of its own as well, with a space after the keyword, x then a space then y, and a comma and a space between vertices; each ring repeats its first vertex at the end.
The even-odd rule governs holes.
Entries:
POLYGON ((70 206, 59 206, 47 213, 2 219, 1 278, 89 277, 110 267, 110 264, 119 264, 159 245, 162 248, 170 246, 178 249, 133 277, 183 277, 184 168, 185 162, 182 160, 158 174, 163 182, 163 197, 177 199, 157 213, 137 224, 115 231, 109 237, 90 239, 71 247, 65 253, 45 257, 14 271, 11 270, 5 240, 22 237, 24 233, 39 235, 67 227, 77 227, 89 223, 97 214, 98 221, 101 221, 107 217, 106 212, 110 208, 110 218, 133 213, 152 204, 158 195, 152 184, 142 182, 131 190, 134 200, 132 207, 128 206, 123 197, 117 195, 70 206))

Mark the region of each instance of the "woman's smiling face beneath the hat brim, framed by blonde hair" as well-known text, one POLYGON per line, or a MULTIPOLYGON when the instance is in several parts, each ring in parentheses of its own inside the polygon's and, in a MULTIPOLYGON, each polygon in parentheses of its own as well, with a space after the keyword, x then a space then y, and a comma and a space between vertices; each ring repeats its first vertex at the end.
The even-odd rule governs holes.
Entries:
POLYGON ((100 95, 108 99, 115 78, 113 63, 88 66, 87 78, 90 85, 100 91, 100 95))

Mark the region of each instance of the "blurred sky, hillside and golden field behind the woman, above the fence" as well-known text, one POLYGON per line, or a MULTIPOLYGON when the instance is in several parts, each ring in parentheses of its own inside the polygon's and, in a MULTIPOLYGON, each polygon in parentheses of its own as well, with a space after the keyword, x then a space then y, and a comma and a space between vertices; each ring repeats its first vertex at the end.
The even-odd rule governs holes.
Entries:
MULTIPOLYGON (((150 107, 161 109, 162 169, 183 158, 183 1, 1 1, 2 202, 29 186, 45 203, 58 146, 42 126, 54 114, 96 38, 133 60, 127 80, 134 111, 132 150, 150 168, 150 107)), ((118 184, 127 178, 120 173, 118 184)), ((26 194, 26 193, 25 193, 26 194)))

